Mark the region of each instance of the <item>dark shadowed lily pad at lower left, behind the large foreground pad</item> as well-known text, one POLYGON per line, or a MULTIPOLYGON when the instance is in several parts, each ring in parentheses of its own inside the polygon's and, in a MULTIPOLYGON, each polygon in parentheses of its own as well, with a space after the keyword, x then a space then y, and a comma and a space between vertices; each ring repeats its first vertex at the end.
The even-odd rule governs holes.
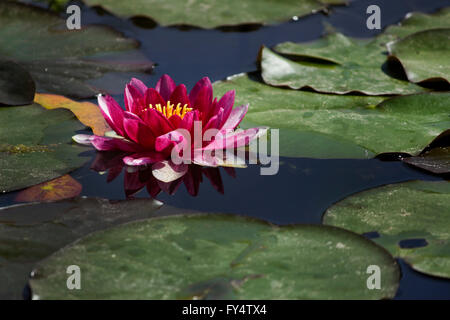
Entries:
POLYGON ((93 231, 152 217, 150 199, 77 198, 0 208, 0 299, 22 299, 33 266, 93 231))

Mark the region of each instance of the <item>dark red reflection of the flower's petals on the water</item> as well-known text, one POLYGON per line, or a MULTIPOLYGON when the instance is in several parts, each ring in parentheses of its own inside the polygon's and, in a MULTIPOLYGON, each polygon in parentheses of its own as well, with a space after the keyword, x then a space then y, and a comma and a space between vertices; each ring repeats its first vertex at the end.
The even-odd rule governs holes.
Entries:
MULTIPOLYGON (((128 167, 123 163, 123 152, 98 152, 91 169, 107 173, 106 181, 111 182, 116 179, 120 173, 124 172, 124 191, 127 198, 133 198, 136 193, 143 188, 147 189, 148 194, 155 198, 159 193, 165 192, 173 195, 181 185, 185 185, 187 192, 196 197, 199 192, 203 177, 206 177, 212 187, 219 193, 224 193, 222 176, 219 168, 202 167, 190 164, 185 168, 181 176, 173 181, 167 182, 157 179, 152 172, 151 166, 128 167)), ((230 177, 236 177, 233 168, 223 167, 223 171, 230 177)))

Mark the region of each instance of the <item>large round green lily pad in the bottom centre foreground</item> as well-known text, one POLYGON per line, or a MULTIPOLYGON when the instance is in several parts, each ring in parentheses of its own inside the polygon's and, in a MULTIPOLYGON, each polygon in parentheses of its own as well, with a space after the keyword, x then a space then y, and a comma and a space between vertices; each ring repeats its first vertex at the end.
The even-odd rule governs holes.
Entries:
POLYGON ((36 299, 380 299, 393 297, 399 280, 386 251, 348 231, 220 214, 94 233, 36 272, 36 299), (81 290, 67 290, 69 265, 80 267, 81 290), (369 265, 381 269, 380 290, 367 288, 369 265))

